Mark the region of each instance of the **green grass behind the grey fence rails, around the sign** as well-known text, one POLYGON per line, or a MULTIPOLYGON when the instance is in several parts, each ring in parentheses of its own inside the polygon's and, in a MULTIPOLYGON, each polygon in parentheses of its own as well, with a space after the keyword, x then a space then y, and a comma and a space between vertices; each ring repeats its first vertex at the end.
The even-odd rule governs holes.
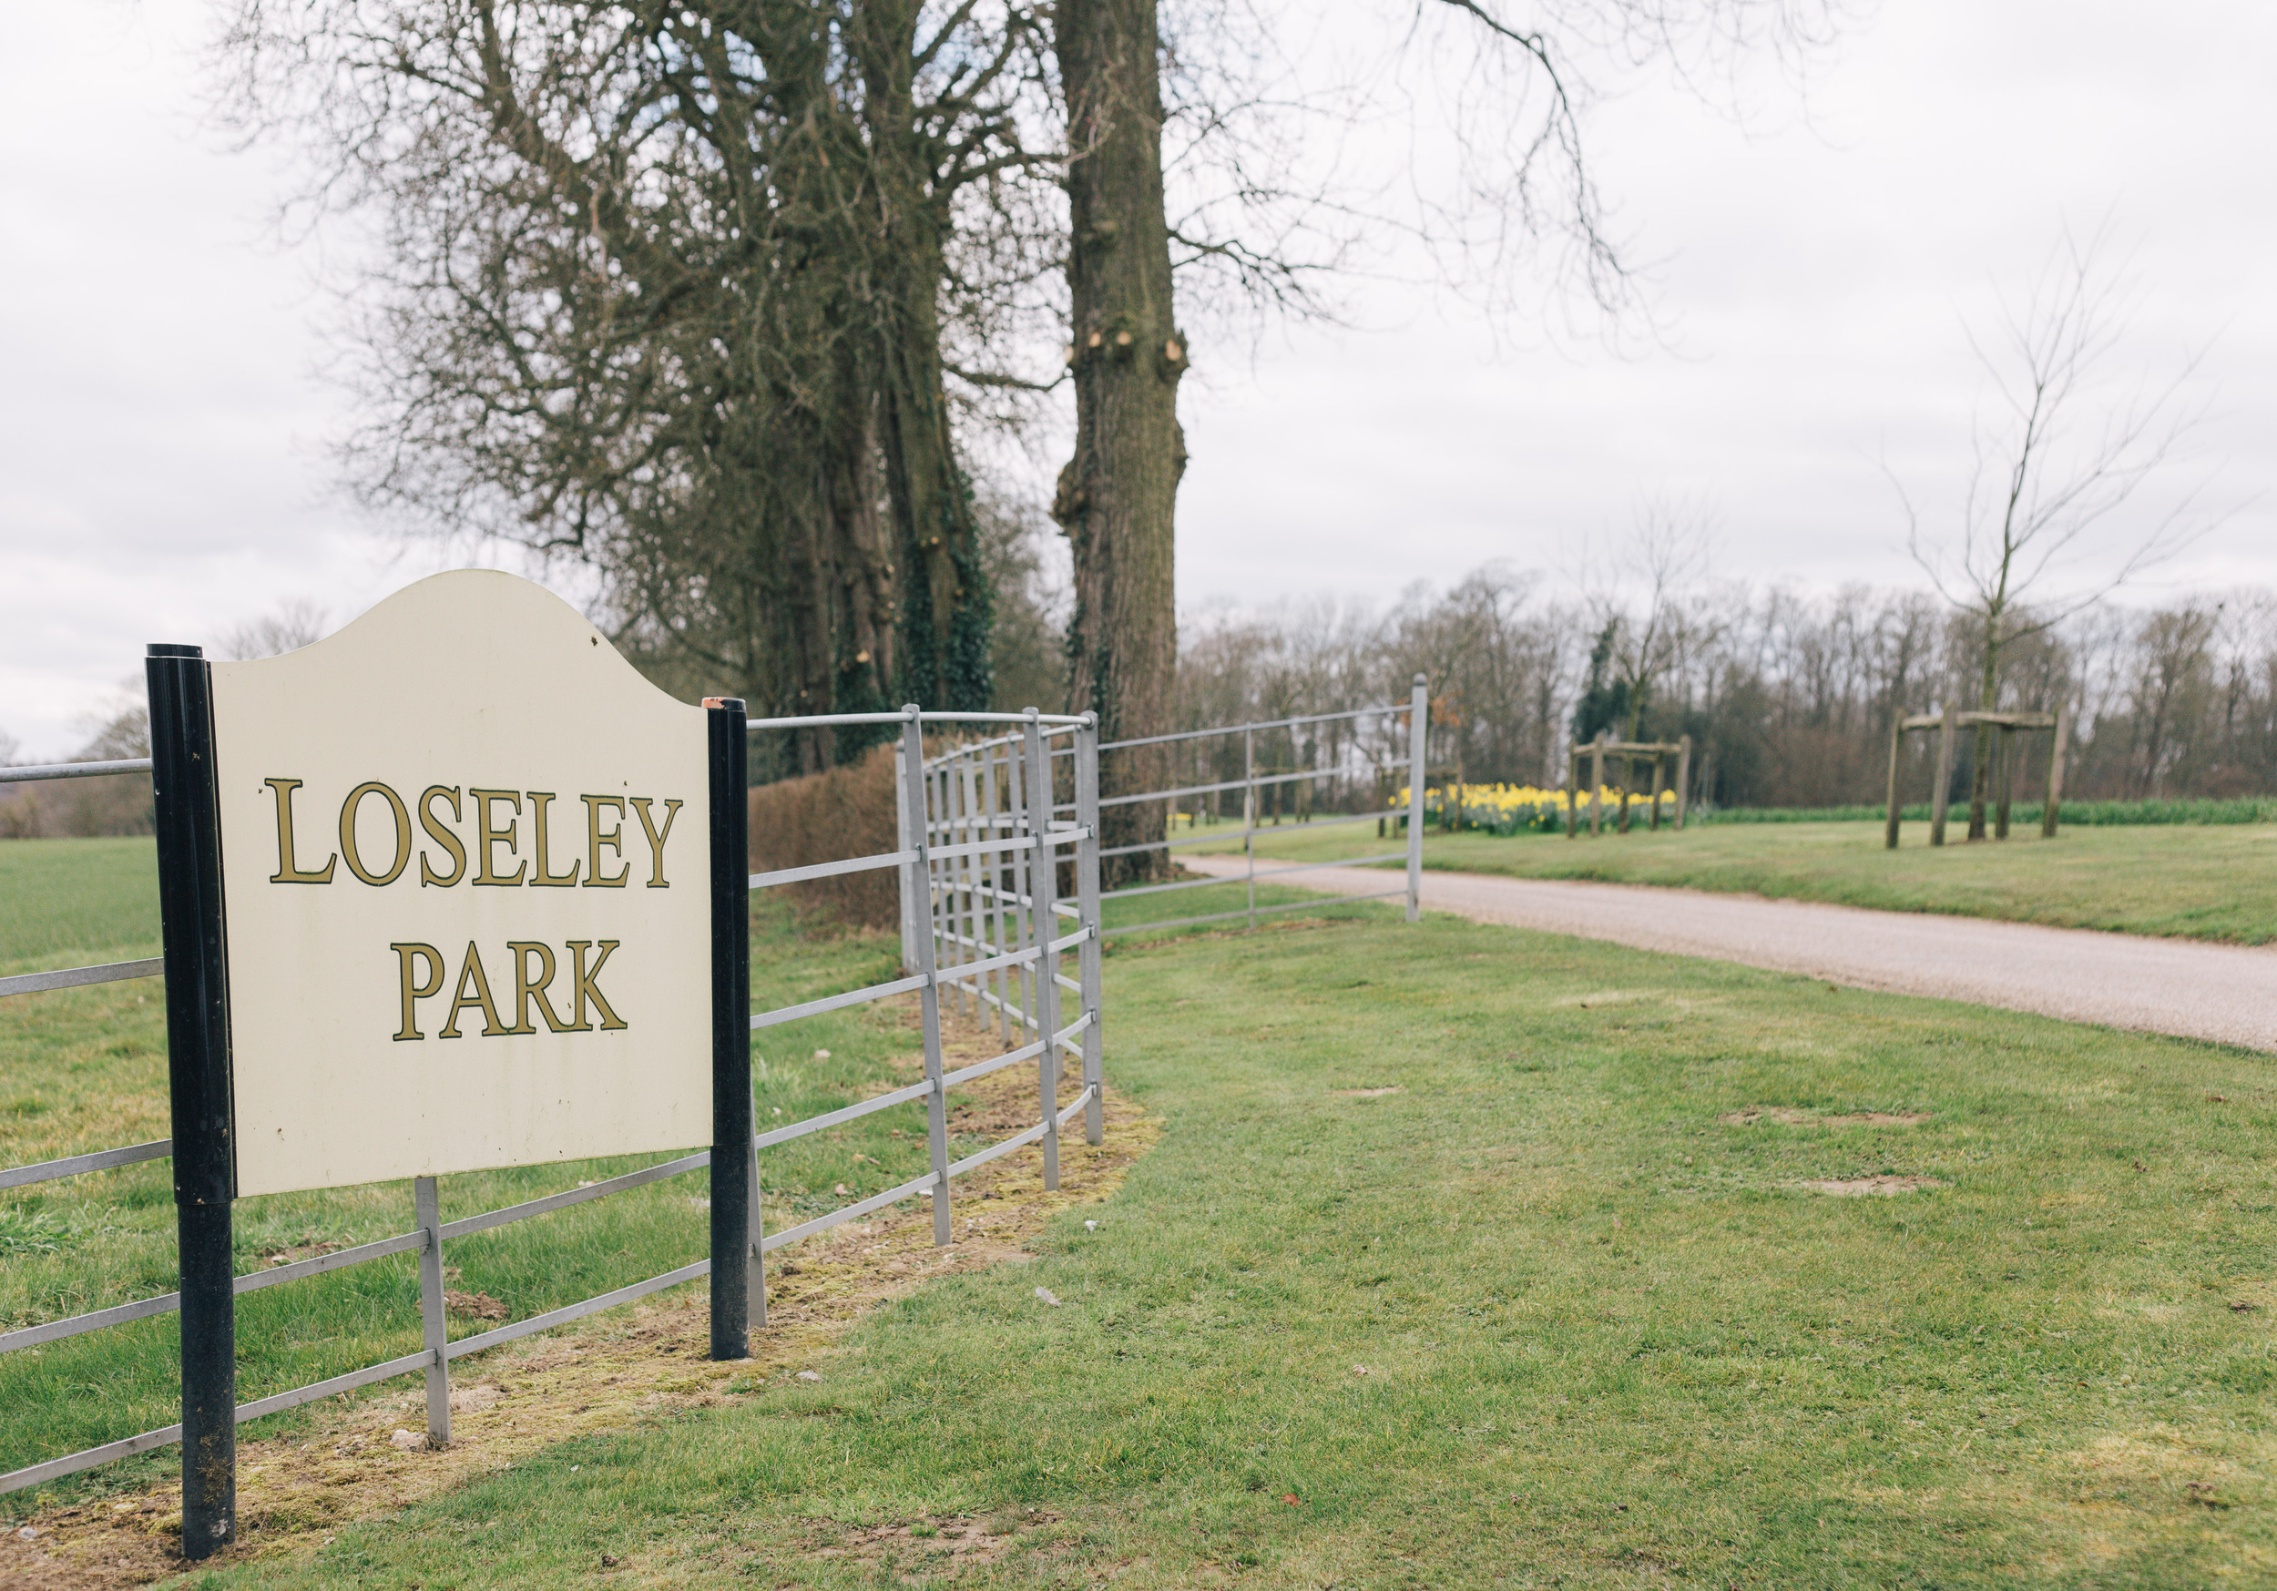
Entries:
MULTIPOLYGON (((0 895, 25 938, 0 942, 0 956, 68 965, 100 942, 98 904, 134 899, 134 874, 112 847, 150 844, 48 840, 59 856, 91 856, 89 883, 41 867, 9 874, 34 890, 0 895), (46 904, 46 908, 41 908, 46 904), (34 956, 16 956, 20 947, 34 956), (71 947, 59 954, 57 947, 71 947)), ((11 849, 0 847, 0 858, 11 849)), ((132 924, 130 924, 132 926, 132 924)), ((150 947, 148 954, 155 954, 150 947)), ((779 910, 761 910, 754 929, 754 995, 792 1004, 895 974, 897 947, 881 935, 806 938, 779 910)), ((911 1049, 899 1011, 842 1011, 754 1042, 754 1088, 761 1124, 790 1122, 868 1097, 911 1049), (820 1056, 817 1052, 829 1052, 820 1056), (779 1113, 779 1115, 776 1115, 779 1113)), ((906 1081, 906 1079, 904 1079, 906 1081)), ((0 1165, 27 1165, 164 1138, 166 1020, 157 981, 20 995, 0 1001, 0 1165)), ((981 1147, 959 1138, 956 1152, 981 1147)), ((597 1181, 669 1154, 574 1161, 442 1179, 444 1220, 597 1181)), ((842 1129, 815 1134, 761 1156, 770 1229, 845 1204, 833 1188, 877 1193, 924 1170, 918 1106, 881 1111, 842 1129), (868 1159, 861 1159, 868 1156, 868 1159)), ((0 1329, 123 1304, 175 1286, 173 1193, 166 1161, 96 1172, 0 1193, 0 1329)), ((706 1252, 706 1222, 692 1200, 708 1193, 706 1174, 672 1177, 572 1211, 542 1215, 453 1243, 453 1286, 490 1293, 526 1318, 638 1281, 706 1252)), ((260 1270, 269 1254, 312 1243, 346 1247, 412 1225, 410 1184, 373 1184, 326 1193, 241 1200, 235 1211, 239 1272, 260 1270)), ((412 1256, 328 1272, 239 1300, 239 1398, 339 1375, 417 1352, 419 1288, 412 1256)), ((453 1334, 487 1329, 453 1320, 453 1334)), ((173 1316, 89 1332, 34 1350, 0 1354, 0 1470, 77 1448, 132 1436, 180 1418, 178 1322, 173 1316)), ((294 1420, 296 1416, 276 1416, 294 1420)), ((171 1470, 173 1452, 105 1466, 59 1482, 50 1495, 77 1489, 143 1484, 171 1470)), ((0 1498, 20 1511, 39 1493, 0 1498)))

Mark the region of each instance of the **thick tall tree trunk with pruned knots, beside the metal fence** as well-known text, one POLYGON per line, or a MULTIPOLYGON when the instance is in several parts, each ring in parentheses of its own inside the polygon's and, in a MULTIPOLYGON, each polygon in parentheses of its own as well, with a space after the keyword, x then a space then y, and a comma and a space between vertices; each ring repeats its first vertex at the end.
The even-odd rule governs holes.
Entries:
MULTIPOLYGON (((1161 200, 1161 43, 1154 0, 1061 0, 1059 73, 1068 93, 1068 300, 1075 457, 1052 517, 1075 553, 1068 692, 1100 715, 1100 740, 1170 728, 1177 674, 1173 583, 1177 478, 1186 439, 1177 380, 1186 337, 1170 307, 1161 200)), ((1102 794, 1164 785, 1159 749, 1113 753, 1102 794)), ((1104 840, 1164 838, 1164 806, 1107 808, 1104 840)), ((1166 867, 1164 851, 1118 858, 1118 876, 1166 867)))

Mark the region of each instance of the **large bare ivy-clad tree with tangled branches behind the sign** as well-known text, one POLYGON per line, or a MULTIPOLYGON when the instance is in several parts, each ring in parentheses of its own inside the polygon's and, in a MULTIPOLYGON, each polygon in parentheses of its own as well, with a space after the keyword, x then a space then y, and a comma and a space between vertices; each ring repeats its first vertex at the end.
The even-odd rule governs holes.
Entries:
POLYGON ((348 360, 369 501, 590 564, 628 651, 763 710, 988 706, 952 376, 1020 378, 945 351, 1057 264, 1034 7, 225 14, 237 125, 378 221, 348 360))

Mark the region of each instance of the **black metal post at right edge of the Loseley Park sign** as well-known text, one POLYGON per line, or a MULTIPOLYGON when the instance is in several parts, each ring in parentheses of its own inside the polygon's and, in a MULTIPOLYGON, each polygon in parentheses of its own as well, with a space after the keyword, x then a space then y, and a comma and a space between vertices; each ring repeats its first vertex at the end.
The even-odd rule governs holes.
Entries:
POLYGON ((751 1357, 751 806, 742 701, 706 696, 713 863, 713 1359, 751 1357))

